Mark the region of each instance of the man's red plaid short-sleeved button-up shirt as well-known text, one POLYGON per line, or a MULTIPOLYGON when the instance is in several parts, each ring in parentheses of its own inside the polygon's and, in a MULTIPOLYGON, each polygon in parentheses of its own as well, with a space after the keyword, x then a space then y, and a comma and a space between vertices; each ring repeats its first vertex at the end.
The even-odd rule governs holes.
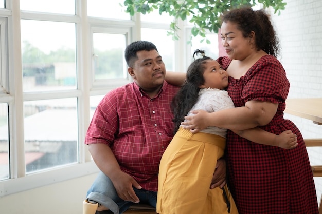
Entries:
POLYGON ((110 91, 97 106, 85 144, 110 145, 122 171, 157 191, 160 159, 173 138, 170 102, 177 91, 166 82, 153 99, 135 83, 110 91))

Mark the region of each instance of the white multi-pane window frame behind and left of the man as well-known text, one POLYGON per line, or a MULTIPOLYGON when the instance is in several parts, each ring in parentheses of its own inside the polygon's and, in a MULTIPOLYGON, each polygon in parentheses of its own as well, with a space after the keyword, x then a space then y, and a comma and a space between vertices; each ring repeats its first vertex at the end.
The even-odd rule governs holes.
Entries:
MULTIPOLYGON (((126 35, 126 45, 140 40, 140 14, 135 14, 131 20, 109 20, 108 18, 88 17, 86 12, 86 1, 76 1, 76 15, 53 14, 45 12, 21 11, 18 0, 7 0, 8 9, 0 9, 0 18, 7 19, 4 28, 6 35, 5 46, 1 46, 1 57, 5 51, 6 88, 8 94, 0 94, 0 102, 9 105, 9 156, 10 156, 10 178, 0 181, 0 197, 9 194, 38 188, 57 182, 75 179, 97 173, 99 169, 91 158, 84 139, 91 121, 90 98, 93 95, 104 95, 110 89, 129 83, 132 79, 122 79, 109 86, 104 81, 93 81, 92 55, 93 55, 93 32, 99 33, 122 33, 126 35), (12 16, 12 15, 15 16, 12 16), (23 92, 22 88, 22 56, 21 56, 21 30, 20 20, 39 20, 69 22, 76 24, 76 66, 77 66, 77 88, 71 90, 45 91, 45 92, 23 92), (91 72, 88 72, 91 71, 91 72), (103 83, 104 82, 104 83, 103 83), (36 173, 25 171, 25 149, 24 149, 24 111, 25 101, 48 100, 59 98, 77 98, 78 102, 78 152, 79 163, 58 166, 56 168, 44 169, 36 173)), ((142 24, 144 27, 168 29, 167 24, 159 23, 142 24)), ((1 43, 2 41, 0 41, 1 43)), ((175 52, 182 51, 182 45, 175 41, 175 52)), ((184 42, 180 42, 184 43, 184 42)), ((176 67, 180 68, 183 57, 176 60, 176 67)), ((3 60, 3 58, 1 58, 3 60)), ((181 67, 182 68, 182 67, 181 67)), ((178 70, 178 69, 177 69, 178 70)), ((1 75, 4 74, 1 70, 1 75)), ((3 76, 1 76, 3 77, 3 76)), ((4 79, 3 79, 4 80, 4 79)), ((113 82, 114 83, 114 82, 113 82)), ((3 82, 2 82, 3 84, 3 82)))

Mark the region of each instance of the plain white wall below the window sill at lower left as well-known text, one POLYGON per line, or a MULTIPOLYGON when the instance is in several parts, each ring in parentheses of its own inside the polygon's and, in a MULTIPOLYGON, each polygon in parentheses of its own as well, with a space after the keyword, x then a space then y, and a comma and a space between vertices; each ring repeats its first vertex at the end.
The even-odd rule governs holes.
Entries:
POLYGON ((81 214, 96 173, 0 198, 1 214, 81 214))

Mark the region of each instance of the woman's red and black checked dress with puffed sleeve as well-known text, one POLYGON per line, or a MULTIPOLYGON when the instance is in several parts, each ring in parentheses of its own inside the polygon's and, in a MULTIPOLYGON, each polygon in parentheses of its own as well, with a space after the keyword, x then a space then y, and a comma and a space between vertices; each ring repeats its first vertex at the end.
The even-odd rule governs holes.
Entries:
MULTIPOLYGON (((231 60, 220 57, 226 69, 231 60)), ((286 150, 240 138, 228 131, 227 165, 231 192, 239 214, 318 213, 316 191, 302 135, 283 119, 289 81, 280 62, 263 56, 239 80, 229 77, 228 93, 236 107, 249 100, 279 103, 273 120, 261 128, 279 134, 292 130, 298 146, 286 150)))

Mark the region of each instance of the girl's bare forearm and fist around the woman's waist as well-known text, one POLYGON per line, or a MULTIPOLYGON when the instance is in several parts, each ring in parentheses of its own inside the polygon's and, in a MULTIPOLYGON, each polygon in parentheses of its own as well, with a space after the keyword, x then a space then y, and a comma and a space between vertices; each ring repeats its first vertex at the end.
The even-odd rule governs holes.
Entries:
POLYGON ((283 149, 292 149, 298 145, 296 134, 293 134, 291 130, 283 131, 279 135, 264 131, 258 127, 242 131, 232 131, 242 138, 259 144, 278 146, 283 149))

